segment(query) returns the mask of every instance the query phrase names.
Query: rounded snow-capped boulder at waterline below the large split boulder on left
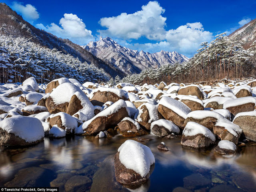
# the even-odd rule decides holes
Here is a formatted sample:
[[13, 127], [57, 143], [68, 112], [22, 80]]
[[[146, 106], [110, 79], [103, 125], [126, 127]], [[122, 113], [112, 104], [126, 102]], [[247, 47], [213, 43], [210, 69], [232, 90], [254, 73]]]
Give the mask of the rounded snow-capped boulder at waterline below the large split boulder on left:
[[72, 133], [77, 128], [78, 123], [76, 118], [64, 112], [59, 112], [50, 117], [50, 126], [53, 127], [55, 125], [67, 133]]

